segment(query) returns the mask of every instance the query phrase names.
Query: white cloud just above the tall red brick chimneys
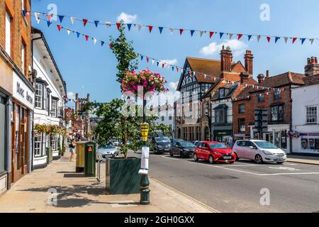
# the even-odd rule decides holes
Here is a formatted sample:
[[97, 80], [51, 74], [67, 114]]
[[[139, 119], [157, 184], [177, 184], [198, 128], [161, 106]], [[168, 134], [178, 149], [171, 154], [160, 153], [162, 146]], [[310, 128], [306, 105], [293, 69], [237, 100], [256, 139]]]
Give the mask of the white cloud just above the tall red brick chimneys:
[[214, 55], [216, 52], [219, 52], [223, 48], [223, 45], [225, 46], [225, 48], [230, 47], [231, 50], [234, 50], [234, 56], [241, 55], [242, 52], [245, 51], [244, 49], [247, 48], [247, 45], [240, 40], [228, 40], [220, 44], [210, 43], [209, 45], [201, 48], [199, 53], [205, 56]]

